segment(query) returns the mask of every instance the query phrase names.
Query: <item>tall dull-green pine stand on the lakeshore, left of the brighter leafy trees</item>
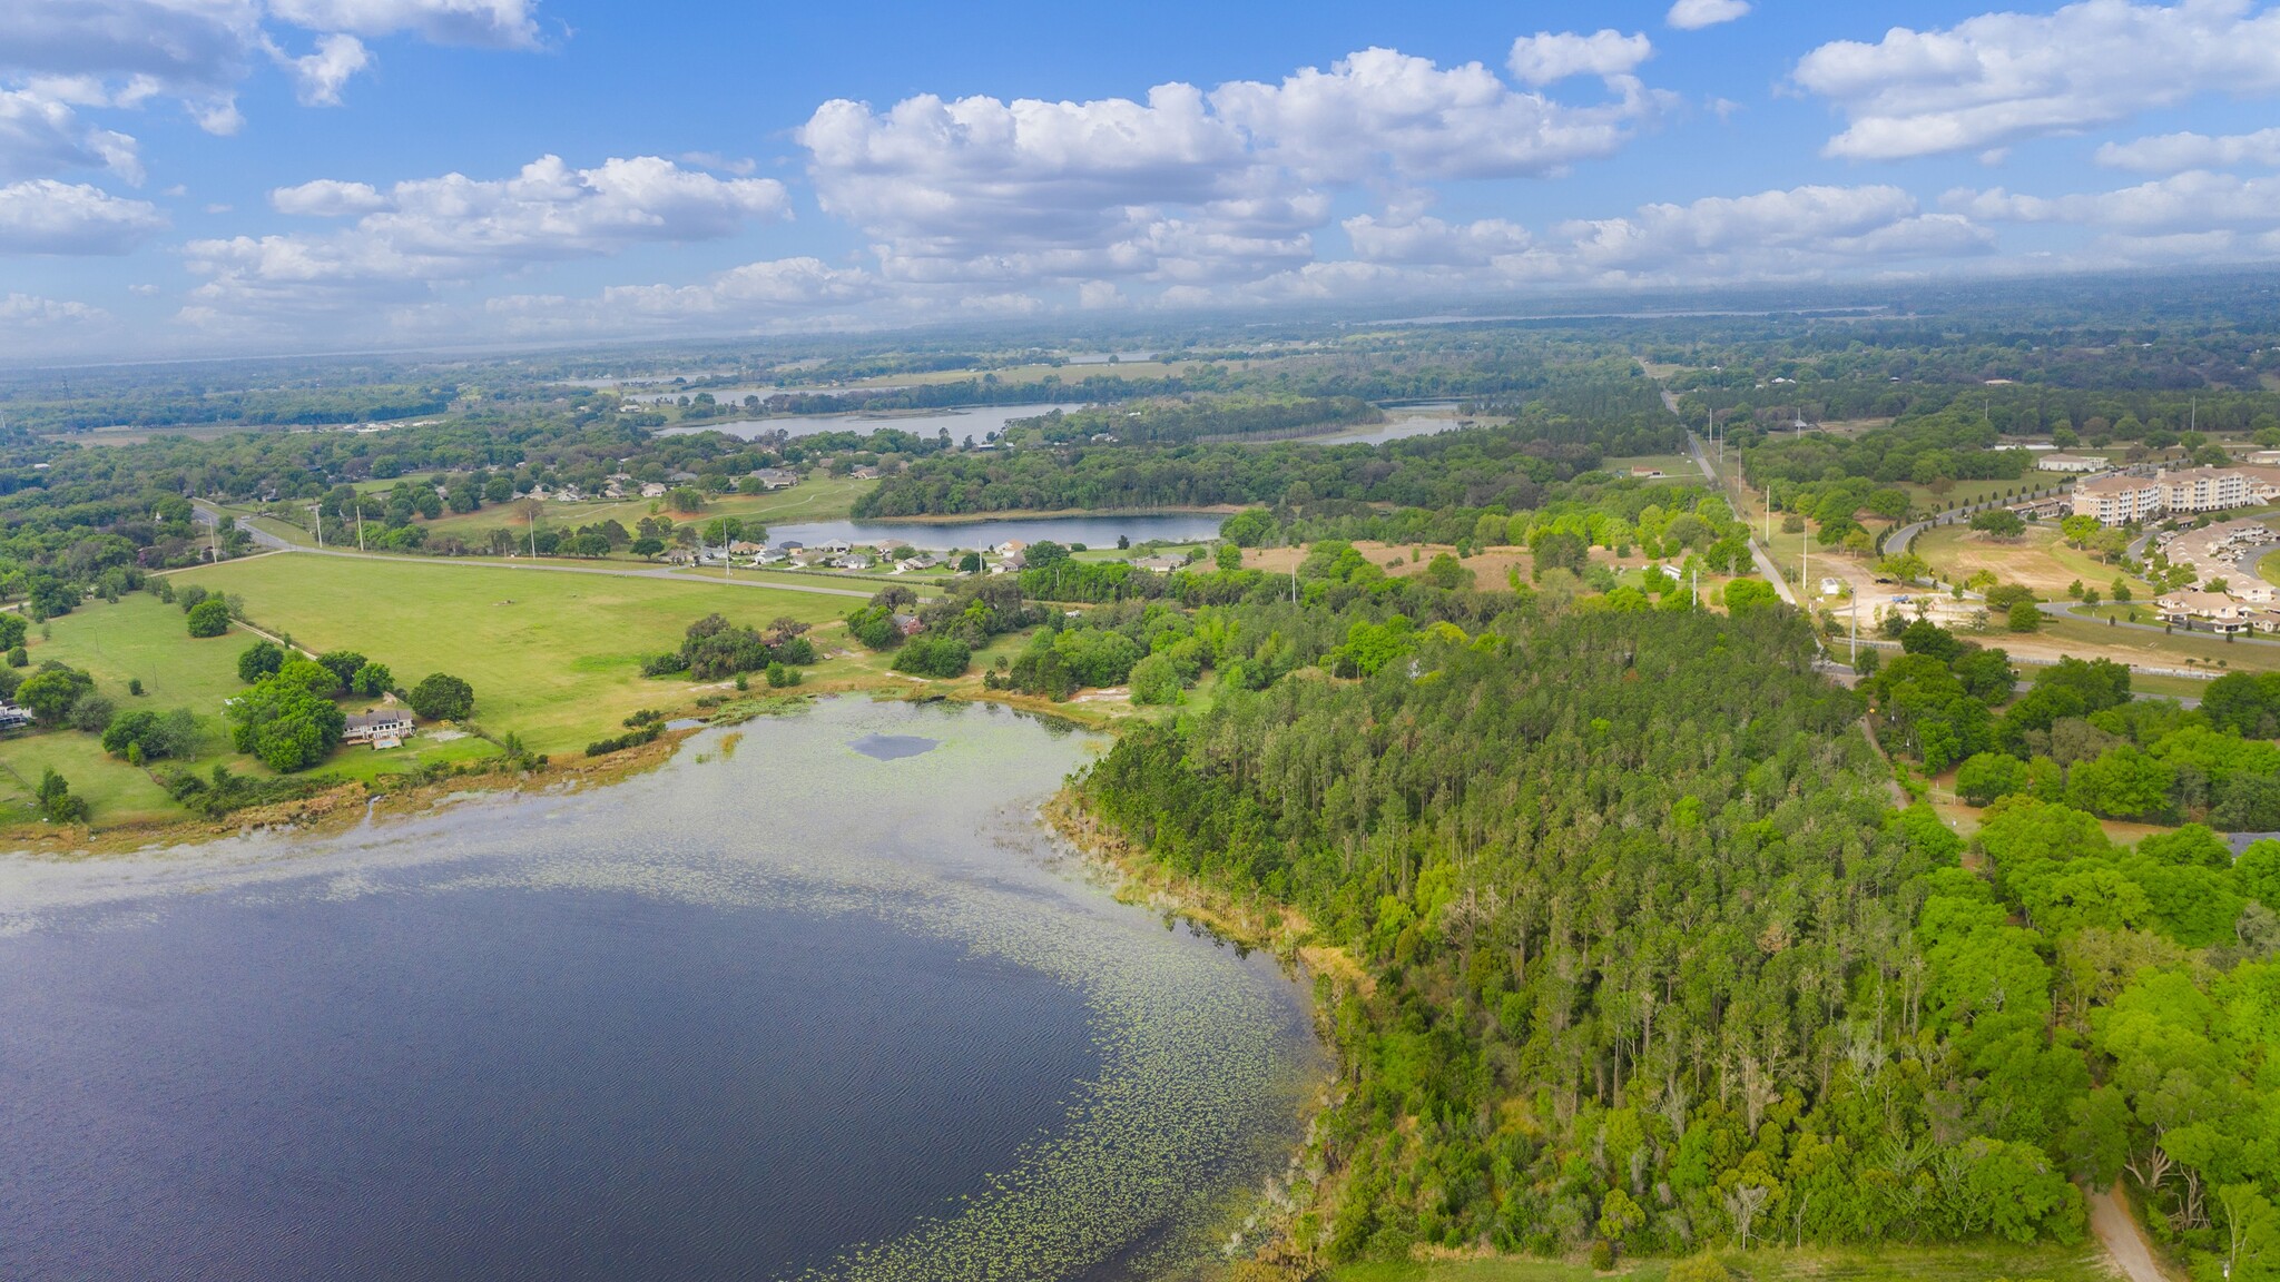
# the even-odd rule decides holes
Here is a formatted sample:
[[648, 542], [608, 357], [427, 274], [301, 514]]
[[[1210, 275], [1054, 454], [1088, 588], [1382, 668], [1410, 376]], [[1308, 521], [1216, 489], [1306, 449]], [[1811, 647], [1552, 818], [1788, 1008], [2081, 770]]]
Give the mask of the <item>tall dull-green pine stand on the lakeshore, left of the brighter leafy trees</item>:
[[1411, 657], [1222, 691], [1078, 785], [1377, 981], [1311, 1246], [2079, 1234], [2084, 1058], [1922, 931], [1959, 842], [1890, 810], [1794, 616], [1509, 602]]

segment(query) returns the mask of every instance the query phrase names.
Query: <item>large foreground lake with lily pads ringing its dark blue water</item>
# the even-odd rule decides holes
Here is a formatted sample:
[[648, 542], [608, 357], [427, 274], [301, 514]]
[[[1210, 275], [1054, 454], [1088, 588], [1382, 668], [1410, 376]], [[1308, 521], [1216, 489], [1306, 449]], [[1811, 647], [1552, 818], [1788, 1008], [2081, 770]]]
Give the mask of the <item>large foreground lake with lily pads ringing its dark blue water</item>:
[[1042, 837], [1092, 748], [828, 700], [584, 794], [0, 862], [0, 1277], [1204, 1257], [1318, 1049], [1265, 958]]

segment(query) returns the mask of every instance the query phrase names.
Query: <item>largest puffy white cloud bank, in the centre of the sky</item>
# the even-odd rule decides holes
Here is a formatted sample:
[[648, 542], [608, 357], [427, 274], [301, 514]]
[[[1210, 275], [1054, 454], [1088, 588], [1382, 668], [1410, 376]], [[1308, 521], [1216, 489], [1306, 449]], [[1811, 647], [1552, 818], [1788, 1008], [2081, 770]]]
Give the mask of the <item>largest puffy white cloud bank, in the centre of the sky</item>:
[[825, 212], [901, 281], [1224, 281], [1293, 269], [1327, 187], [1518, 178], [1619, 151], [1669, 107], [1628, 75], [1644, 36], [1541, 36], [1537, 71], [1596, 73], [1566, 105], [1487, 66], [1370, 48], [1281, 82], [1145, 100], [905, 98], [821, 105], [798, 130]]

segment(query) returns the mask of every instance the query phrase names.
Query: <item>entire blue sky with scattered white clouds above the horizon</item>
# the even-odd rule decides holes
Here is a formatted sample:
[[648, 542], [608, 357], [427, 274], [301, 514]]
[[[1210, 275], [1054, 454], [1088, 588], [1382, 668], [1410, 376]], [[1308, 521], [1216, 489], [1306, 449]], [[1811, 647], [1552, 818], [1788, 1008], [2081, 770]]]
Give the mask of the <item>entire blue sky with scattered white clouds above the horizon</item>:
[[2264, 262], [2275, 103], [2257, 0], [14, 0], [0, 347]]

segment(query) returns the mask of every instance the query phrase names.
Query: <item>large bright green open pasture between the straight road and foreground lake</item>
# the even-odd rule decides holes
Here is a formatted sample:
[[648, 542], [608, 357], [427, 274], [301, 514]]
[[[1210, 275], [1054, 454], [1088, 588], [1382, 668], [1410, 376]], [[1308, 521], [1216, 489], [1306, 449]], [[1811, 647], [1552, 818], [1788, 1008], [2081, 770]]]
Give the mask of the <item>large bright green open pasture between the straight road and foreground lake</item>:
[[[187, 570], [176, 584], [244, 598], [246, 616], [310, 650], [358, 650], [404, 687], [426, 673], [474, 684], [477, 721], [538, 753], [618, 732], [643, 707], [686, 705], [691, 687], [641, 662], [723, 614], [766, 627], [825, 623], [855, 598], [702, 579], [575, 575], [456, 563], [278, 554]], [[239, 641], [242, 643], [242, 641]]]

